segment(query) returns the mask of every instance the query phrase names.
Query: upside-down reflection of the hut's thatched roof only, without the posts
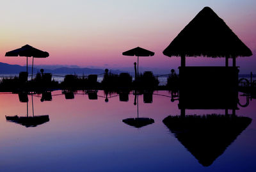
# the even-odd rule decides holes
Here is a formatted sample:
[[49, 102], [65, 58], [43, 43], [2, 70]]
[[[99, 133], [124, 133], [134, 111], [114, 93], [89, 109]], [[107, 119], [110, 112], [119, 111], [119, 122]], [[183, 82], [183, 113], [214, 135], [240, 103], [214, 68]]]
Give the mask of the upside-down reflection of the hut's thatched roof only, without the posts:
[[168, 116], [163, 123], [200, 164], [210, 166], [251, 121], [247, 117], [208, 114]]

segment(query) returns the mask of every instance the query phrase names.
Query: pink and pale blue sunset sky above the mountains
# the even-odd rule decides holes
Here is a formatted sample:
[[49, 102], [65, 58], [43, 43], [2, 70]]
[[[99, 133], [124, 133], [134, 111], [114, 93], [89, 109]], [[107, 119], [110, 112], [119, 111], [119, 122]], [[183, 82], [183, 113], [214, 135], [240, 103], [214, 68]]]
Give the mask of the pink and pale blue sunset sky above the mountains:
[[[25, 58], [4, 54], [29, 44], [50, 54], [36, 59], [35, 65], [133, 68], [136, 58], [122, 52], [140, 46], [156, 52], [140, 58], [141, 67], [177, 69], [180, 58], [162, 52], [204, 6], [211, 7], [252, 50], [253, 56], [238, 58], [240, 71], [256, 72], [255, 0], [2, 0], [0, 62], [26, 65]], [[188, 58], [187, 65], [223, 66], [225, 59]]]

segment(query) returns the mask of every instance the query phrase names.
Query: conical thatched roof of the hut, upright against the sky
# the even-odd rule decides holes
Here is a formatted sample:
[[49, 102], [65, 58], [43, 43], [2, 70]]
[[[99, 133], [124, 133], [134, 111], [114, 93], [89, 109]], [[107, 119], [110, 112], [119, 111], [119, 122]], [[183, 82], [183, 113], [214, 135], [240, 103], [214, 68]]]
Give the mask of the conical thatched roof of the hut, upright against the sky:
[[209, 7], [205, 7], [163, 51], [172, 56], [252, 56], [252, 51]]

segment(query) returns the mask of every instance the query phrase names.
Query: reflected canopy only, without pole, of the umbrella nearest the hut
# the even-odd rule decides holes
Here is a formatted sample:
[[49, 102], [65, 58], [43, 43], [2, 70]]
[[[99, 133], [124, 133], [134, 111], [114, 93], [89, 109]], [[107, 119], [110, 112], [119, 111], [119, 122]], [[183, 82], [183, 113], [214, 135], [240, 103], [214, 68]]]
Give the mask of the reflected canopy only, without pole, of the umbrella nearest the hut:
[[152, 124], [155, 121], [152, 118], [127, 118], [123, 120], [123, 122], [131, 125], [132, 127], [141, 128], [146, 125]]

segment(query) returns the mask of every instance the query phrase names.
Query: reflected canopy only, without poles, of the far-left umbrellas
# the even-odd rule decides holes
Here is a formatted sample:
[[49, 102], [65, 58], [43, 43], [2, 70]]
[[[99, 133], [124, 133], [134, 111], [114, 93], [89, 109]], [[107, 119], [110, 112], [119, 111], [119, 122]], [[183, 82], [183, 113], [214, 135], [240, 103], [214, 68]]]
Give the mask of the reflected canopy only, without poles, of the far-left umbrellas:
[[49, 115], [42, 116], [33, 116], [33, 117], [19, 117], [19, 116], [5, 116], [7, 121], [11, 121], [14, 123], [19, 123], [20, 125], [24, 125], [26, 127], [36, 127], [37, 125], [41, 125], [49, 121]]

